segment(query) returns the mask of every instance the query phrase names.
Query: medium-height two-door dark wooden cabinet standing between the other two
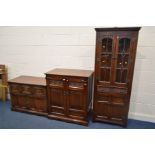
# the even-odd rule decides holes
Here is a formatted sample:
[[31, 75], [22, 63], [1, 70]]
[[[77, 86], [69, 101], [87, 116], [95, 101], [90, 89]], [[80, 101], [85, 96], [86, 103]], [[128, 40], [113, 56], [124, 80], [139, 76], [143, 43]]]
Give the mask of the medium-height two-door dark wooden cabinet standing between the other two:
[[88, 125], [93, 72], [54, 69], [46, 73], [48, 118]]

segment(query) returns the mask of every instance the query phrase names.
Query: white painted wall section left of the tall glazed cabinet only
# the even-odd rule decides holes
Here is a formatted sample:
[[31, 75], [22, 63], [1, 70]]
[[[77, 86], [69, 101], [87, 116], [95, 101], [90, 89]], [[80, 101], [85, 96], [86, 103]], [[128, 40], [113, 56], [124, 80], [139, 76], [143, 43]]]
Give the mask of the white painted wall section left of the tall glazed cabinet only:
[[9, 77], [44, 76], [53, 68], [94, 68], [95, 31], [89, 27], [0, 27], [0, 63]]

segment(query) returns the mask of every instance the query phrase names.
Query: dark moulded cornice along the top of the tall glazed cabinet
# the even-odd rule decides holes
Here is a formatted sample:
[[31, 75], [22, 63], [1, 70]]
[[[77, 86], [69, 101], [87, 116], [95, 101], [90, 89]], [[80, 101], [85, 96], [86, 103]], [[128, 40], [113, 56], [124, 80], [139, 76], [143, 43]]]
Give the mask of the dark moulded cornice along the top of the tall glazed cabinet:
[[141, 27], [103, 27], [103, 28], [95, 28], [96, 32], [101, 31], [139, 31]]

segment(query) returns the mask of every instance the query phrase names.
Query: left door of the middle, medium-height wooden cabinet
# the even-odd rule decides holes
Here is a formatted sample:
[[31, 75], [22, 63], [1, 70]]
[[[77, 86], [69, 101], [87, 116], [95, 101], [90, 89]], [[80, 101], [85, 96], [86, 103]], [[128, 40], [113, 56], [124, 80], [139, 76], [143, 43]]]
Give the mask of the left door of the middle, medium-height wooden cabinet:
[[62, 81], [51, 80], [49, 84], [49, 112], [65, 115], [66, 96]]

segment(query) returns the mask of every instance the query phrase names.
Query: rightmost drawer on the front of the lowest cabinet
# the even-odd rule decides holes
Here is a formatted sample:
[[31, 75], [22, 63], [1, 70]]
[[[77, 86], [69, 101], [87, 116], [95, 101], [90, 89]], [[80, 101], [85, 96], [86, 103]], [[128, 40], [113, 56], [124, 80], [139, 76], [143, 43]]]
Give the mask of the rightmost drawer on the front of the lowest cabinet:
[[36, 98], [45, 98], [46, 97], [46, 88], [44, 88], [44, 87], [33, 87], [33, 95]]

